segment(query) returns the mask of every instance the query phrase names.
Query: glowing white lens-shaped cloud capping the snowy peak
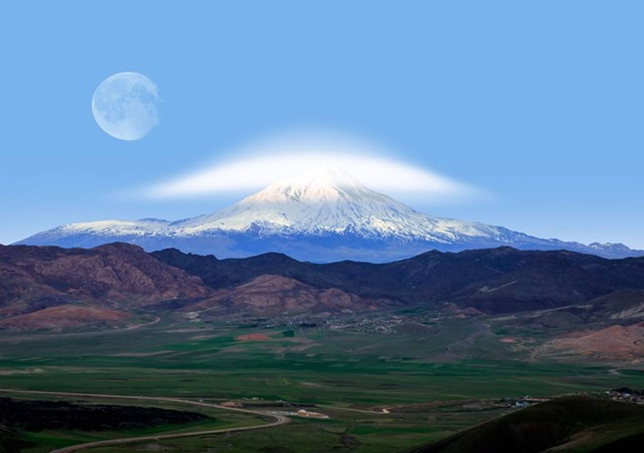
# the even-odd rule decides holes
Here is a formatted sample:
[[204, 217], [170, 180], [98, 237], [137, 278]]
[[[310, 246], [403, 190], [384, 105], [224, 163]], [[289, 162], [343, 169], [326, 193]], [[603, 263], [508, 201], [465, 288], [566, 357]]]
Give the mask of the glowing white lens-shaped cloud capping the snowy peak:
[[291, 137], [239, 149], [238, 159], [196, 169], [144, 189], [146, 197], [176, 198], [254, 190], [311, 169], [343, 169], [371, 189], [462, 198], [479, 191], [428, 169], [386, 157], [365, 143], [319, 136]]

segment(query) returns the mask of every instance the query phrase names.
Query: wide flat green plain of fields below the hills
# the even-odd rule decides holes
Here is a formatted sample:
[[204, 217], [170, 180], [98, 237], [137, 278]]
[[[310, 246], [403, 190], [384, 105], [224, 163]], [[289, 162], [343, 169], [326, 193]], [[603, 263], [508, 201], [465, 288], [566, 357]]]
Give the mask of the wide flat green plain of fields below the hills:
[[[501, 399], [644, 387], [644, 371], [636, 367], [532, 361], [491, 333], [478, 335], [477, 329], [471, 322], [450, 320], [433, 335], [326, 328], [295, 329], [291, 334], [283, 327], [226, 323], [158, 323], [102, 333], [5, 333], [0, 336], [0, 387], [238, 400], [267, 410], [284, 410], [279, 405], [286, 401], [319, 405], [315, 410], [330, 416], [145, 447], [232, 452], [264, 447], [283, 452], [403, 450], [507, 412], [498, 403]], [[261, 335], [239, 340], [244, 334]], [[450, 354], [445, 354], [448, 348]], [[459, 357], [459, 348], [468, 349], [469, 358]], [[391, 413], [346, 410], [383, 408]], [[216, 420], [205, 429], [261, 422], [243, 414], [211, 412]], [[143, 433], [23, 433], [23, 438], [39, 445], [30, 451], [40, 452], [95, 439], [202, 429], [204, 423]]]

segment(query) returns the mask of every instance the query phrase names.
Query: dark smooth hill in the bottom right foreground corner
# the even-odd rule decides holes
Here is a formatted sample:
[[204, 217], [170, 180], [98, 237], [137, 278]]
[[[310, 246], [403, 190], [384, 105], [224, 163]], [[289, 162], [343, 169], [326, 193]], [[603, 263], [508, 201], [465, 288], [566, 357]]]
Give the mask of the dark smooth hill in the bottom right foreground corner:
[[644, 407], [565, 396], [411, 450], [414, 453], [641, 452]]

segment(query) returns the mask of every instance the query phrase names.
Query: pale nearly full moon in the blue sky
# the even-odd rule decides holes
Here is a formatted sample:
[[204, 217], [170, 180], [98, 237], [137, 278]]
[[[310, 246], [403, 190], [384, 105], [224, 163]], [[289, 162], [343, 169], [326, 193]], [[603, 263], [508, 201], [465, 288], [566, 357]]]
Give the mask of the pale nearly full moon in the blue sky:
[[100, 83], [91, 97], [91, 113], [112, 137], [138, 140], [158, 124], [160, 102], [156, 85], [148, 77], [119, 72]]

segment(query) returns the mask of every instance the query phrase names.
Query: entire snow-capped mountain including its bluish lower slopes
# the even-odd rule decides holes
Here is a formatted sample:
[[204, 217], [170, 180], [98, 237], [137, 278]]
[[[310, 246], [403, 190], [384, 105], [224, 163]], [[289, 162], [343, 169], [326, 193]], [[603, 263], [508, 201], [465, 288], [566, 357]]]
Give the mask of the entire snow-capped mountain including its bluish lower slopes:
[[115, 241], [148, 250], [176, 247], [220, 258], [278, 251], [316, 262], [379, 262], [428, 249], [498, 246], [569, 249], [610, 258], [644, 255], [644, 251], [623, 244], [585, 246], [540, 239], [504, 227], [430, 217], [333, 168], [274, 182], [209, 215], [176, 222], [145, 218], [68, 224], [37, 233], [19, 244], [90, 247]]

